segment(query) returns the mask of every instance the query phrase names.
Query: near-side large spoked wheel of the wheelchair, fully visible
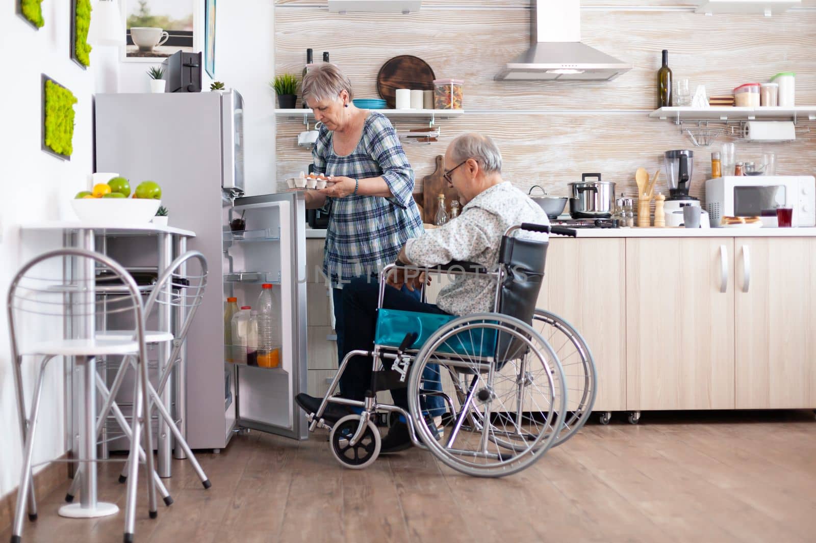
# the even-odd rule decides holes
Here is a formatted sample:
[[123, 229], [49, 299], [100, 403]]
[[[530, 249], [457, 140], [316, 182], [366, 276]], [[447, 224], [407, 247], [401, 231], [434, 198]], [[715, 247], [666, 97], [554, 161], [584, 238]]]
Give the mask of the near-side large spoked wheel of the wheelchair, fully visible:
[[433, 333], [411, 364], [413, 421], [422, 420], [420, 384], [427, 364], [439, 364], [441, 375], [452, 377], [442, 380], [442, 388], [452, 388], [459, 399], [443, 439], [415, 424], [419, 438], [447, 466], [481, 477], [511, 475], [543, 456], [557, 438], [566, 404], [557, 385], [564, 382], [561, 364], [521, 320], [482, 313], [451, 320]]

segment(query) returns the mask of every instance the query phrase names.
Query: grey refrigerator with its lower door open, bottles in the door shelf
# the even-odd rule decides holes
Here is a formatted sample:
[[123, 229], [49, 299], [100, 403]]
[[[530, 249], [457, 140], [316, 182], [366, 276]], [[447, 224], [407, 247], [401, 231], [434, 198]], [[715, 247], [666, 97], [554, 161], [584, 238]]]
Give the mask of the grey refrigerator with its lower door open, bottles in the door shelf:
[[[306, 439], [295, 405], [306, 390], [304, 196], [244, 196], [243, 121], [237, 91], [95, 95], [95, 171], [162, 187], [169, 225], [195, 232], [187, 249], [206, 257], [206, 294], [187, 336], [176, 418], [193, 449], [224, 448], [235, 432]], [[244, 232], [230, 232], [242, 217]], [[277, 368], [234, 364], [224, 355], [224, 303], [255, 306], [263, 283], [277, 289]], [[127, 387], [122, 387], [123, 389]]]

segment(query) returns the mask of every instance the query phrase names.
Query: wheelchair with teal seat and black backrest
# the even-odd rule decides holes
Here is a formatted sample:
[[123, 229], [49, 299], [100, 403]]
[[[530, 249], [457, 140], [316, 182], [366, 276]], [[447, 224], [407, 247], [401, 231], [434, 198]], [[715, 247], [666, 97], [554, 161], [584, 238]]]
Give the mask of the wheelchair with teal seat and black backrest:
[[[403, 417], [412, 444], [478, 477], [524, 470], [586, 422], [596, 393], [592, 353], [573, 326], [535, 307], [548, 241], [512, 236], [517, 230], [576, 236], [570, 228], [522, 223], [504, 232], [495, 271], [474, 263], [424, 268], [397, 262], [380, 272], [372, 350], [348, 352], [317, 412], [307, 413], [310, 431], [330, 430], [330, 451], [342, 466], [362, 469], [379, 456], [379, 413]], [[398, 268], [494, 278], [494, 311], [457, 317], [384, 308], [386, 280]], [[372, 359], [364, 401], [335, 395], [354, 356]], [[378, 402], [378, 391], [401, 387], [407, 388], [407, 411]], [[425, 416], [432, 402], [444, 406], [439, 426]], [[328, 404], [361, 413], [330, 424], [322, 418]]]

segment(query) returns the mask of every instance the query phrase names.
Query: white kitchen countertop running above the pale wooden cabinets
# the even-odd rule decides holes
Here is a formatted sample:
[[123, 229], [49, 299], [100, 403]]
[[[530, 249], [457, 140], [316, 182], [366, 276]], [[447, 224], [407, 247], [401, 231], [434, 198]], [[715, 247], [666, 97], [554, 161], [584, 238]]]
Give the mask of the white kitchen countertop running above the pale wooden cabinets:
[[[578, 228], [579, 237], [814, 237], [816, 228]], [[326, 230], [306, 229], [307, 238], [325, 238]], [[561, 236], [558, 236], [561, 237]]]

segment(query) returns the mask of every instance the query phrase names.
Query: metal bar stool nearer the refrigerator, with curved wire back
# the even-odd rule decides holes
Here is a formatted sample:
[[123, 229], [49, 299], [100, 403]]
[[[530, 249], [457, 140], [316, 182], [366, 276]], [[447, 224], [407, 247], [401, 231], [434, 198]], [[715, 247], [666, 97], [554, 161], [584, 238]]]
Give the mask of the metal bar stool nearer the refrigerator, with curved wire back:
[[[190, 464], [193, 466], [193, 470], [195, 470], [198, 478], [201, 480], [202, 486], [204, 488], [210, 488], [210, 479], [207, 478], [204, 470], [193, 454], [193, 451], [189, 448], [187, 441], [184, 439], [184, 435], [182, 435], [174, 418], [163, 404], [161, 398], [162, 392], [166, 388], [166, 384], [171, 376], [171, 373], [173, 372], [173, 369], [181, 360], [180, 354], [182, 348], [184, 347], [184, 341], [187, 337], [190, 324], [192, 324], [193, 318], [195, 317], [197, 309], [201, 305], [202, 298], [204, 297], [204, 292], [206, 290], [206, 279], [206, 258], [202, 253], [199, 251], [188, 251], [187, 253], [176, 258], [173, 263], [171, 263], [171, 265], [167, 267], [164, 272], [162, 272], [162, 276], [157, 279], [157, 282], [153, 285], [153, 289], [151, 290], [150, 297], [144, 306], [145, 316], [150, 316], [153, 309], [157, 309], [158, 311], [175, 311], [177, 317], [175, 335], [171, 332], [163, 330], [145, 330], [144, 339], [145, 342], [149, 344], [171, 342], [173, 347], [170, 354], [166, 358], [166, 364], [164, 364], [164, 367], [162, 368], [162, 373], [159, 375], [157, 386], [153, 388], [153, 384], [151, 382], [147, 382], [149, 396], [151, 399], [150, 408], [148, 409], [148, 416], [152, 416], [153, 407], [157, 408], [160, 420], [163, 420], [163, 422], [169, 427], [169, 430], [175, 437], [176, 446], [179, 446], [182, 448], [182, 450], [184, 450], [184, 454], [186, 455]], [[104, 330], [97, 332], [96, 338], [124, 339], [127, 338], [130, 333], [131, 332], [126, 329]], [[100, 417], [96, 423], [97, 436], [101, 434], [105, 421], [111, 413], [113, 413], [113, 417], [117, 420], [119, 426], [122, 427], [122, 430], [125, 430], [127, 435], [126, 426], [122, 425], [122, 421], [125, 420], [125, 417], [122, 414], [121, 409], [116, 404], [115, 398], [120, 387], [122, 386], [127, 369], [131, 367], [135, 367], [135, 360], [133, 357], [126, 357], [125, 360], [122, 360], [122, 364], [120, 364], [116, 376], [113, 378], [113, 384], [110, 386], [110, 389], [101, 376], [97, 377], [97, 388], [105, 400], [104, 407], [100, 411]], [[129, 435], [127, 436], [129, 437]], [[143, 455], [144, 452], [140, 451], [140, 457]], [[128, 481], [128, 479], [130, 479], [130, 470], [131, 462], [128, 460], [126, 462], [126, 466], [124, 466], [122, 469], [122, 475], [119, 476], [120, 483], [125, 483]], [[169, 492], [166, 491], [166, 488], [162, 484], [162, 481], [159, 479], [156, 472], [153, 472], [153, 479], [156, 482], [159, 492], [162, 494], [165, 504], [171, 505], [173, 500], [170, 497]], [[77, 488], [78, 481], [74, 480], [68, 494], [65, 496], [65, 501], [73, 501], [73, 496], [77, 491]], [[130, 485], [128, 496], [131, 496]], [[128, 501], [128, 506], [130, 506], [130, 504], [131, 502]], [[128, 510], [126, 510], [126, 522], [131, 523], [133, 519], [134, 515], [128, 514]], [[132, 525], [129, 524], [129, 526], [132, 528]]]

